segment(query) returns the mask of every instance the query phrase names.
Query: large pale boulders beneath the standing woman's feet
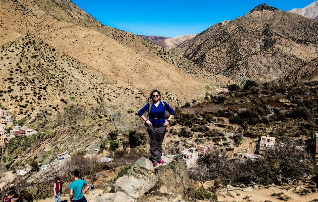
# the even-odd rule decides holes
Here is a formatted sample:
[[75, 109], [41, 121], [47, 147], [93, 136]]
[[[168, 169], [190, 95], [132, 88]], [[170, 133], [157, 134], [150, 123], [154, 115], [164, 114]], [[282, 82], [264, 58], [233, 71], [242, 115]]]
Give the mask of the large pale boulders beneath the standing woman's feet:
[[157, 168], [149, 159], [138, 159], [128, 175], [113, 184], [112, 192], [97, 196], [97, 202], [111, 201], [192, 201], [191, 182], [180, 155], [164, 155]]

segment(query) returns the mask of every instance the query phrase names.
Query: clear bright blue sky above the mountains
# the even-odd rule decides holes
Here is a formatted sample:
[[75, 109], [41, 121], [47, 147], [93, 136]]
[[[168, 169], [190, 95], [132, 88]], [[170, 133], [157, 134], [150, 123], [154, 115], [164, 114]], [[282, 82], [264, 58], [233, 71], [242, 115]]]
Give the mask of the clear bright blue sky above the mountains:
[[200, 33], [266, 3], [288, 11], [313, 0], [72, 0], [102, 24], [140, 35], [174, 37]]

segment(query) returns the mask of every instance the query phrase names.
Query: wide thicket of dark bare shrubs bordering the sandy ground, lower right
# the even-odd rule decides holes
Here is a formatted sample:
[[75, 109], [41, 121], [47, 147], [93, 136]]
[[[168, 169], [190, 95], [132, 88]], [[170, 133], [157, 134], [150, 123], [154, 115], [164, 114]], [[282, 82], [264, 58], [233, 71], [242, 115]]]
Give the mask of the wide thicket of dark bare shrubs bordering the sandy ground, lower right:
[[189, 170], [189, 176], [197, 181], [219, 179], [224, 185], [252, 182], [282, 184], [300, 179], [305, 173], [315, 173], [314, 162], [309, 155], [295, 149], [289, 139], [278, 140], [276, 145], [257, 161], [230, 159], [219, 151], [212, 151], [198, 159], [197, 166]]

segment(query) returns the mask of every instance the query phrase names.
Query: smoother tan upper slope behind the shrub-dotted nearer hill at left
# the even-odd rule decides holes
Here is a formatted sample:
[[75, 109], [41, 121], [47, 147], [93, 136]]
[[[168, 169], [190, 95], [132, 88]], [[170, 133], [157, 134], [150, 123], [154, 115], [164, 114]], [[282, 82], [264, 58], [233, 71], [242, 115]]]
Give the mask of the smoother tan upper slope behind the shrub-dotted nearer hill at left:
[[182, 104], [203, 97], [206, 84], [218, 83], [187, 59], [135, 34], [102, 26], [70, 1], [2, 1], [1, 6], [7, 11], [0, 14], [0, 37], [6, 38], [2, 43], [31, 33], [118, 85], [132, 85], [145, 93], [159, 88], [173, 94], [171, 102]]

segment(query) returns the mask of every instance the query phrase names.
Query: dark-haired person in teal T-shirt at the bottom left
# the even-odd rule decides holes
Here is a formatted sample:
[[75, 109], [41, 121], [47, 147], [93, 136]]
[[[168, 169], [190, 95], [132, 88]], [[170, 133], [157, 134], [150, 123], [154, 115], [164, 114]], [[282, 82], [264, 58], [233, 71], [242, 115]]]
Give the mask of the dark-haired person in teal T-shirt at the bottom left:
[[[87, 202], [83, 193], [89, 189], [90, 184], [80, 178], [79, 171], [74, 171], [73, 175], [75, 180], [70, 184], [70, 200], [73, 202]], [[84, 186], [86, 188], [82, 192]]]

